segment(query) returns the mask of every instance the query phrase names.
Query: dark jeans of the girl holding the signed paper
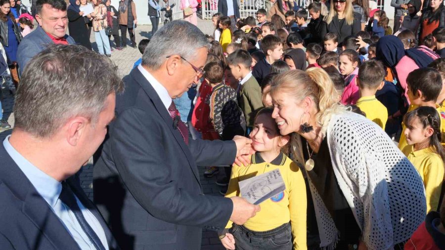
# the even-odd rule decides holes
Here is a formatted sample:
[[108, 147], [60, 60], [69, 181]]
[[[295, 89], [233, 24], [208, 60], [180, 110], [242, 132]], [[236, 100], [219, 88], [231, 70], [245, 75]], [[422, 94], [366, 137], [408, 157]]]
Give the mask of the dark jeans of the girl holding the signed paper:
[[266, 232], [255, 232], [236, 225], [232, 234], [237, 250], [292, 250], [293, 247], [290, 223]]

